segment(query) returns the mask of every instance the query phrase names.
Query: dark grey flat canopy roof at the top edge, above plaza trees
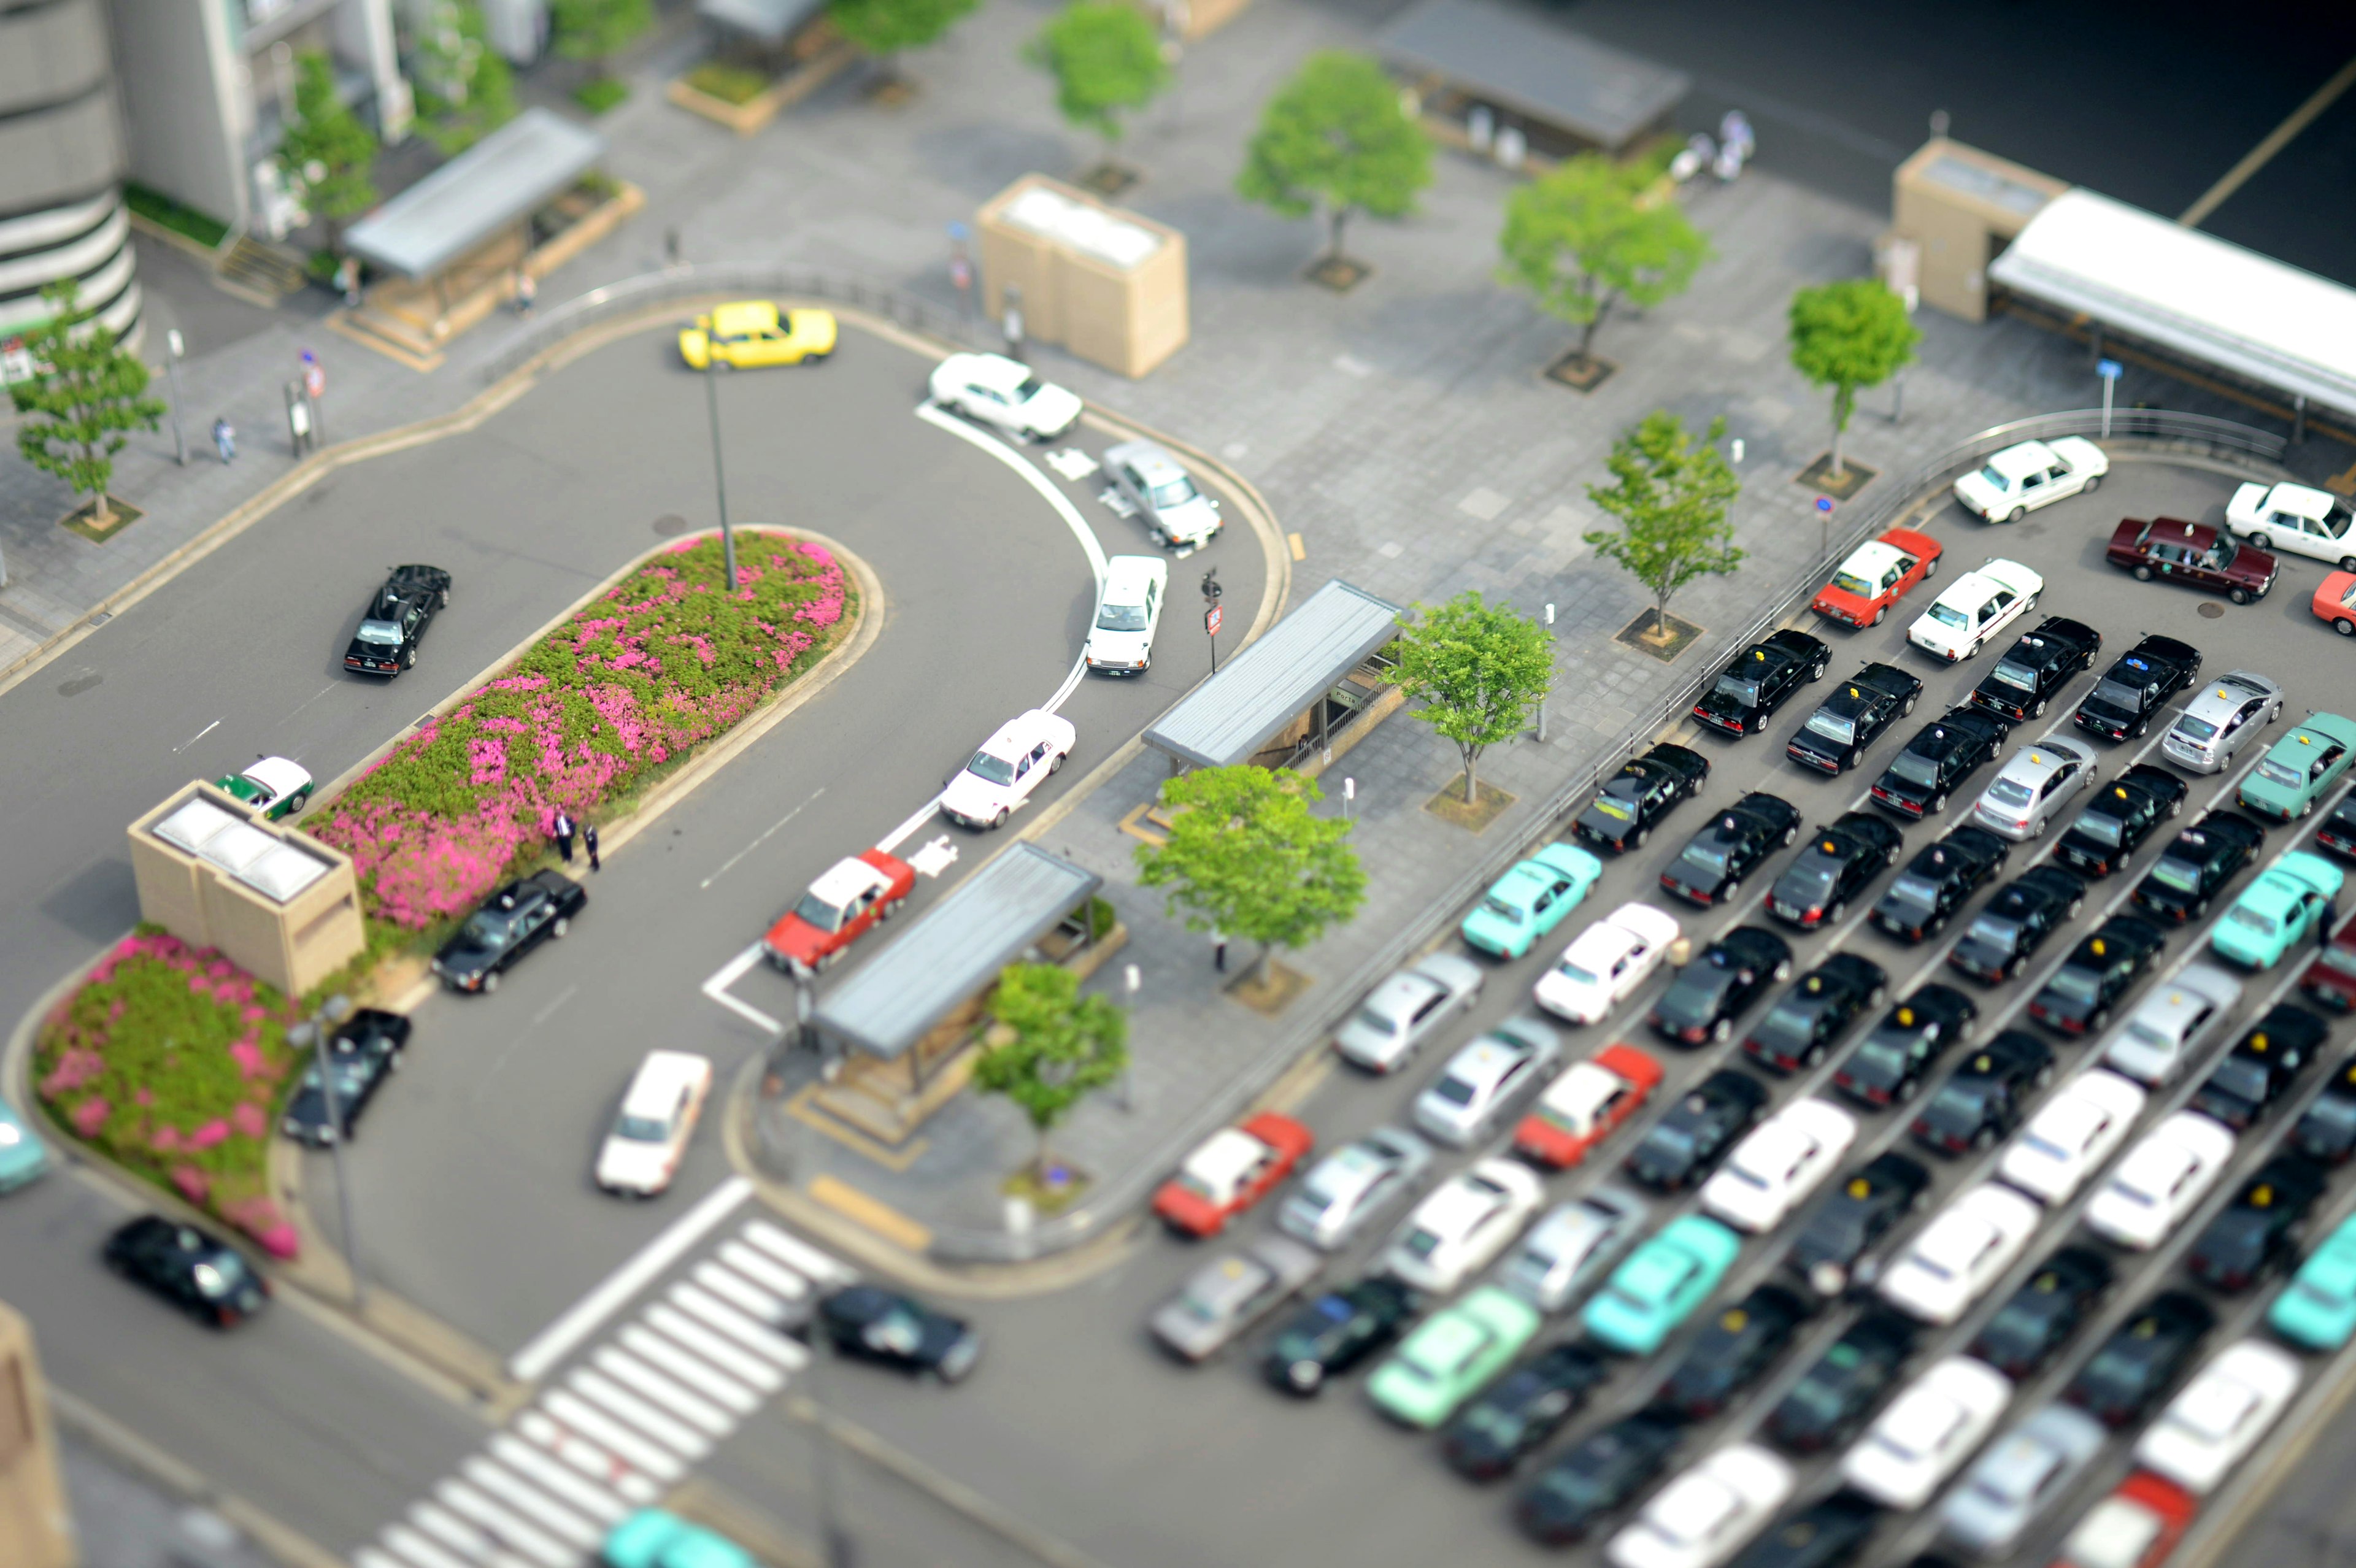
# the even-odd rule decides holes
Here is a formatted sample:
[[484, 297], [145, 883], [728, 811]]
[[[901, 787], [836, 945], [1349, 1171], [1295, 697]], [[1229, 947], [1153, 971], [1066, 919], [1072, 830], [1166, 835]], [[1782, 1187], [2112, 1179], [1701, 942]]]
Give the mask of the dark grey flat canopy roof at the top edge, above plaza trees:
[[1489, 0], [1423, 0], [1374, 47], [1392, 66], [1619, 151], [1673, 111], [1692, 78]]

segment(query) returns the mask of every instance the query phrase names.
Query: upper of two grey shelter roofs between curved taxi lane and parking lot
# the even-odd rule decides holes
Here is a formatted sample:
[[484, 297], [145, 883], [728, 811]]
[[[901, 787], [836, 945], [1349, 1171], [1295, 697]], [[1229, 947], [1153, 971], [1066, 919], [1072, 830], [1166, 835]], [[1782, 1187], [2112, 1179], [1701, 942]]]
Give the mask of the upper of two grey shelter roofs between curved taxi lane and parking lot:
[[1154, 720], [1145, 744], [1194, 768], [1249, 763], [1395, 636], [1399, 607], [1336, 577]]

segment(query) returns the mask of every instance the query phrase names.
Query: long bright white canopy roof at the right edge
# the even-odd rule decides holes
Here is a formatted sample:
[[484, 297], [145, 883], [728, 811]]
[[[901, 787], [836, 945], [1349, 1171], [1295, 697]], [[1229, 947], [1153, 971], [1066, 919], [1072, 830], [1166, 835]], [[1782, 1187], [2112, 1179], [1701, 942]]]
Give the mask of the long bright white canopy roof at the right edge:
[[2003, 287], [2356, 417], [2356, 290], [2092, 191], [1988, 266]]

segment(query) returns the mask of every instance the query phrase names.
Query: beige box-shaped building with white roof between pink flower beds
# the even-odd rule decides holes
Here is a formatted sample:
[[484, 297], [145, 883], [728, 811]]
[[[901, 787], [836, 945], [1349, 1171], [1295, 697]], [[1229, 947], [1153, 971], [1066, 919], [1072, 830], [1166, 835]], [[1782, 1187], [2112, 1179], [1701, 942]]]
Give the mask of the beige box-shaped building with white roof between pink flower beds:
[[130, 826], [139, 918], [302, 996], [368, 946], [351, 857], [188, 784]]

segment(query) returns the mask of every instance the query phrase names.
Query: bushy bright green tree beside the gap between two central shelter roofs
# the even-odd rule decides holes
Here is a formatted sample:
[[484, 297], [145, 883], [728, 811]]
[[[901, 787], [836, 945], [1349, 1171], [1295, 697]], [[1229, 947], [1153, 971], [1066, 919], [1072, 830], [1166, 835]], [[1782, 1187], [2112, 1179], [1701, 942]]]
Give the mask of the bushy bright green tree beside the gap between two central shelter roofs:
[[1366, 873], [1345, 819], [1310, 810], [1315, 779], [1289, 768], [1199, 768], [1162, 784], [1169, 843], [1138, 848], [1138, 881], [1166, 888], [1187, 930], [1220, 930], [1270, 949], [1303, 949], [1357, 913]]

